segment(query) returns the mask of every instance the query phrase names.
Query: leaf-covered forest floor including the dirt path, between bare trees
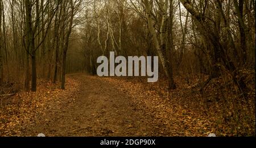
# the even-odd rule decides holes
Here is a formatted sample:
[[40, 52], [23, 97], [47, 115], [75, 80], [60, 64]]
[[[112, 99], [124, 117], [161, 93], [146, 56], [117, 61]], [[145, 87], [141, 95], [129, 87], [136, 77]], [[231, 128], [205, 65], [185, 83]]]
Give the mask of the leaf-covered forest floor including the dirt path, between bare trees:
[[86, 74], [68, 75], [66, 85], [63, 91], [42, 81], [38, 92], [2, 99], [0, 136], [207, 136], [216, 130], [204, 112], [163, 97], [186, 98], [191, 91], [159, 94], [129, 79]]

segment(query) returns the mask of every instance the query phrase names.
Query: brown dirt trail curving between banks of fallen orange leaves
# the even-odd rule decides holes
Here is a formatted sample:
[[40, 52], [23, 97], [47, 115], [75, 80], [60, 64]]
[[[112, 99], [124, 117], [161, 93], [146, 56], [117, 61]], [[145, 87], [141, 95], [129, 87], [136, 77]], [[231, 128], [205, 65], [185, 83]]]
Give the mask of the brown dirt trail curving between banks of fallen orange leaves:
[[68, 77], [81, 82], [75, 102], [70, 107], [64, 102], [63, 108], [53, 105], [47, 109], [35, 124], [26, 127], [26, 136], [156, 136], [159, 126], [125, 92], [89, 75]]

